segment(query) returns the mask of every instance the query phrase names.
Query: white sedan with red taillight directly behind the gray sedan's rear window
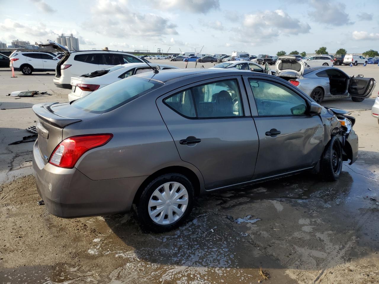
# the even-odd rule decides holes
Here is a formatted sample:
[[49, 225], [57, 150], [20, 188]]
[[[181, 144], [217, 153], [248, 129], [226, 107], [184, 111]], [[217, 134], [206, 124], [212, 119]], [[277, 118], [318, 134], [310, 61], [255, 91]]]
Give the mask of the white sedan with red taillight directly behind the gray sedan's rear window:
[[[178, 67], [172, 65], [150, 63], [153, 69], [158, 65], [161, 70], [178, 69]], [[128, 63], [97, 70], [89, 74], [81, 75], [80, 77], [71, 77], [69, 101], [84, 97], [97, 89], [126, 77], [149, 71], [152, 71], [152, 69], [146, 63]]]

